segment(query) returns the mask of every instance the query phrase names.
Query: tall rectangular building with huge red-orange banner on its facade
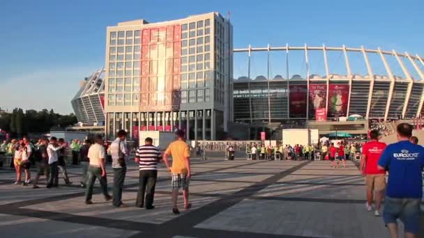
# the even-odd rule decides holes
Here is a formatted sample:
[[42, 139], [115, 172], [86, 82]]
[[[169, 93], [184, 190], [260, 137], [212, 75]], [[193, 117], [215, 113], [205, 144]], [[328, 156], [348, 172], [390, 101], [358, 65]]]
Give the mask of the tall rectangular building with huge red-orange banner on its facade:
[[187, 132], [190, 140], [227, 132], [232, 96], [232, 25], [219, 13], [107, 27], [106, 135], [125, 129]]

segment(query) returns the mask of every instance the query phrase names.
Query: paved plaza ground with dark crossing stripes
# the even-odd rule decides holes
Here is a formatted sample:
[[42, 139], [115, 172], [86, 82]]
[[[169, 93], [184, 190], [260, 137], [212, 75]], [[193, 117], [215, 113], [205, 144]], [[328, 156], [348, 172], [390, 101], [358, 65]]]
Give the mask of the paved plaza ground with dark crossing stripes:
[[[94, 204], [85, 205], [78, 167], [68, 168], [73, 185], [61, 180], [58, 189], [15, 185], [15, 173], [0, 170], [0, 237], [388, 237], [381, 217], [365, 210], [357, 164], [328, 164], [192, 159], [192, 209], [183, 209], [180, 196], [178, 216], [171, 212], [170, 176], [163, 166], [153, 210], [135, 207], [134, 163], [123, 192], [126, 208], [106, 203], [98, 182]], [[424, 223], [418, 237], [424, 237]]]

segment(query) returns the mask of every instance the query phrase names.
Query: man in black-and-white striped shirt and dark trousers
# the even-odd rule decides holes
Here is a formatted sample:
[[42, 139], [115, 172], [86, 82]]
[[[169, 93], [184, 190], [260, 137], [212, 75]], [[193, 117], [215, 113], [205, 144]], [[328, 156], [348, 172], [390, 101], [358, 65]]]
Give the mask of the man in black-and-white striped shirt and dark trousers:
[[[158, 148], [152, 145], [153, 140], [147, 137], [144, 145], [141, 145], [135, 153], [135, 162], [139, 163], [139, 189], [135, 205], [146, 209], [153, 209], [153, 197], [155, 196], [156, 178], [158, 177], [158, 162], [162, 159]], [[146, 193], [146, 203], [144, 203]]]

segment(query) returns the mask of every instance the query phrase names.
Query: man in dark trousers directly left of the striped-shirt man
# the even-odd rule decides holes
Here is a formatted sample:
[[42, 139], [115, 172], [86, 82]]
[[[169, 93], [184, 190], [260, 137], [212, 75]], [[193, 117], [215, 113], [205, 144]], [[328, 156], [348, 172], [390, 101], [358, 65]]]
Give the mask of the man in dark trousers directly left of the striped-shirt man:
[[127, 132], [121, 129], [118, 132], [118, 137], [110, 145], [112, 154], [112, 170], [114, 171], [114, 188], [113, 188], [113, 202], [115, 207], [126, 207], [122, 203], [122, 190], [123, 182], [127, 172], [126, 156], [130, 154], [128, 151], [126, 136]]

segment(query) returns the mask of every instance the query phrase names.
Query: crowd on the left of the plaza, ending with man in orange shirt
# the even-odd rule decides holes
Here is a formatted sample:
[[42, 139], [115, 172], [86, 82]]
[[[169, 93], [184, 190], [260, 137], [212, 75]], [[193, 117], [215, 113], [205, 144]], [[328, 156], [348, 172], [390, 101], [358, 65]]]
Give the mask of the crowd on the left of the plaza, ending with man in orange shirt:
[[[122, 193], [127, 172], [127, 164], [130, 155], [126, 142], [127, 133], [120, 130], [116, 139], [106, 144], [101, 136], [96, 136], [93, 141], [85, 140], [83, 143], [75, 140], [68, 145], [66, 141], [56, 137], [43, 138], [37, 143], [31, 143], [27, 137], [22, 141], [12, 140], [10, 143], [3, 142], [1, 147], [13, 150], [13, 163], [17, 173], [15, 184], [30, 184], [31, 173], [30, 158], [34, 158], [38, 168], [36, 178], [32, 182], [33, 189], [38, 189], [40, 176], [45, 175], [47, 189], [59, 187], [59, 170], [62, 170], [63, 179], [66, 184], [72, 184], [66, 173], [64, 150], [70, 148], [73, 155], [73, 164], [79, 164], [82, 169], [80, 186], [86, 189], [85, 203], [93, 204], [93, 185], [98, 180], [100, 188], [106, 201], [112, 200], [115, 207], [127, 207], [122, 202]], [[135, 205], [140, 208], [153, 209], [153, 198], [158, 177], [158, 164], [164, 162], [172, 177], [172, 212], [179, 214], [177, 205], [179, 189], [183, 189], [184, 208], [190, 209], [189, 184], [190, 184], [190, 147], [185, 143], [185, 133], [182, 130], [176, 132], [176, 141], [170, 143], [167, 150], [162, 153], [153, 145], [152, 138], [146, 138], [144, 145], [137, 148], [135, 162], [139, 165], [139, 189]], [[112, 196], [107, 187], [107, 154], [112, 157], [113, 187]], [[172, 157], [172, 165], [169, 161]], [[63, 160], [63, 161], [62, 161]], [[22, 182], [21, 170], [25, 172], [25, 180]]]

